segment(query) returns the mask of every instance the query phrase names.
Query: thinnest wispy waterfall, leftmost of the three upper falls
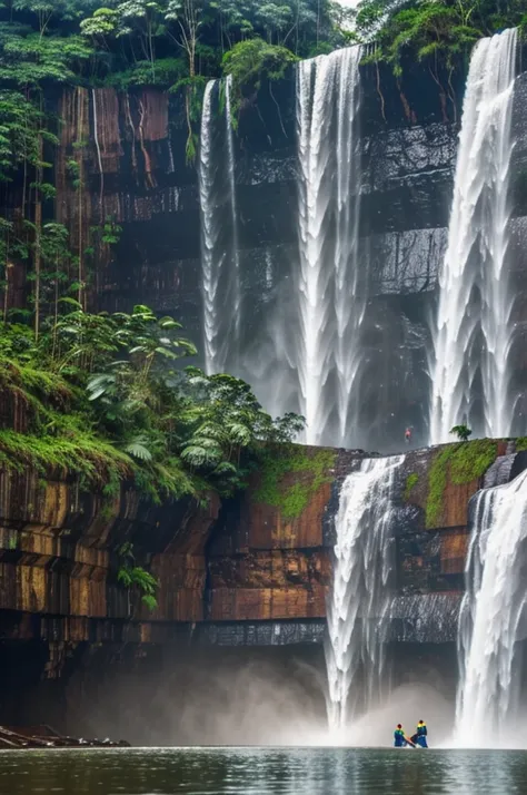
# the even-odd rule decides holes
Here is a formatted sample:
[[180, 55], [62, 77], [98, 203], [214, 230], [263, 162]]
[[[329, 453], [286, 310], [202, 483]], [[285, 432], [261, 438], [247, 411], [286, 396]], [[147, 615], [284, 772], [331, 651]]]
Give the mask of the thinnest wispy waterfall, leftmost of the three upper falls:
[[[220, 90], [225, 90], [222, 125]], [[236, 365], [241, 311], [230, 78], [223, 87], [211, 80], [205, 90], [199, 197], [205, 369], [212, 374]]]

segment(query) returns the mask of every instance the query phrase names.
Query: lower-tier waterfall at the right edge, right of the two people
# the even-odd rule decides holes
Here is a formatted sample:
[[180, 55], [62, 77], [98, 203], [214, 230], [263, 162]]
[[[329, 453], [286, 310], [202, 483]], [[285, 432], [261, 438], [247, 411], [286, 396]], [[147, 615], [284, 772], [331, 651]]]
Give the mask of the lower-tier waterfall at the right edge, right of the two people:
[[478, 492], [471, 508], [456, 736], [464, 747], [523, 746], [515, 732], [521, 709], [519, 641], [527, 638], [527, 470], [506, 485]]

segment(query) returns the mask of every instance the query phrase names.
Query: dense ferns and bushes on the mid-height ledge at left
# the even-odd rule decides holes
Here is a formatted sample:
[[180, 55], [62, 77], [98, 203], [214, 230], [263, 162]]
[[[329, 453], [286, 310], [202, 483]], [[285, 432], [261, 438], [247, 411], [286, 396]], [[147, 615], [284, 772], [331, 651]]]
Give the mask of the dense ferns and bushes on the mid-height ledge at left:
[[230, 494], [262, 442], [290, 442], [302, 426], [296, 415], [274, 421], [242, 381], [181, 369], [195, 347], [172, 318], [74, 304], [46, 317], [38, 337], [0, 326], [0, 391], [13, 415], [0, 430], [2, 467], [59, 469], [106, 493], [133, 480], [156, 501]]

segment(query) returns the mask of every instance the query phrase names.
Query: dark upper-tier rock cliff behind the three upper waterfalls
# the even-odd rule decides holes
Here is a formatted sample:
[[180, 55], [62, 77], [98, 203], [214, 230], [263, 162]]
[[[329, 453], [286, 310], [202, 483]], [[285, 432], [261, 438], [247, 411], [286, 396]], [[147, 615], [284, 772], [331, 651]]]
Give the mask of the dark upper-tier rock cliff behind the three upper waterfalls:
[[[430, 317], [447, 243], [464, 75], [459, 70], [446, 90], [445, 76], [438, 86], [418, 65], [400, 84], [389, 70], [381, 69], [378, 76], [374, 67], [361, 71], [358, 257], [367, 273], [361, 286], [367, 311], [358, 426], [365, 440], [354, 443], [389, 452], [399, 449], [406, 425], [414, 426], [418, 443], [427, 441]], [[526, 92], [524, 72], [515, 88], [509, 246], [516, 295], [511, 389], [524, 396]], [[140, 302], [172, 313], [202, 352], [199, 187], [196, 168], [185, 161], [180, 98], [155, 89], [126, 95], [67, 89], [60, 116], [64, 124], [57, 156], [58, 217], [72, 232], [74, 253], [88, 241], [93, 248], [95, 259], [86, 264], [95, 274], [92, 305], [129, 310]], [[215, 151], [221, 163], [227, 158], [223, 121], [217, 119], [215, 127]], [[87, 144], [79, 147], [79, 140]], [[286, 340], [277, 337], [280, 318], [290, 311], [299, 259], [292, 75], [274, 85], [272, 92], [264, 86], [257, 101], [245, 106], [233, 149], [242, 333], [226, 365], [248, 380], [270, 410], [295, 411], [298, 384], [289, 365], [280, 371], [279, 386], [269, 377], [284, 359], [287, 336], [295, 333], [291, 327]], [[71, 159], [90, 188], [83, 198], [68, 170]], [[215, 202], [218, 218], [229, 227], [226, 196], [220, 192]], [[90, 237], [90, 228], [101, 223], [122, 227], [117, 246]], [[518, 416], [525, 415], [523, 401]]]

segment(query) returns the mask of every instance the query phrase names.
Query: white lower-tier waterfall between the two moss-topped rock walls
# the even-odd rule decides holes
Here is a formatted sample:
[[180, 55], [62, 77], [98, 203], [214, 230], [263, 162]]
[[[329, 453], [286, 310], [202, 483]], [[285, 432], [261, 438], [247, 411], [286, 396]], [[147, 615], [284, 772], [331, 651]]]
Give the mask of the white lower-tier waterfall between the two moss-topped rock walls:
[[374, 707], [385, 680], [392, 595], [392, 498], [405, 457], [365, 459], [341, 489], [326, 662], [330, 728]]

